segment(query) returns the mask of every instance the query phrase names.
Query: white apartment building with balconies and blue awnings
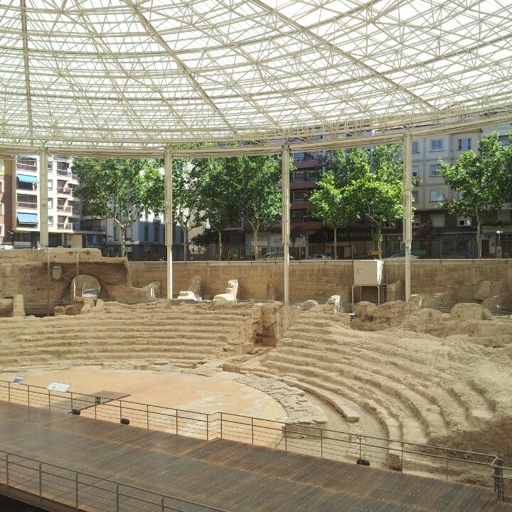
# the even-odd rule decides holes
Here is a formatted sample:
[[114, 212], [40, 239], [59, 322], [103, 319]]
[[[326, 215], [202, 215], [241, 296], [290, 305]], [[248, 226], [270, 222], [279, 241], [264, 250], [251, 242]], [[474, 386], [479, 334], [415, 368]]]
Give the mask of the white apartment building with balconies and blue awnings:
[[[5, 166], [4, 160], [4, 166]], [[105, 223], [82, 218], [82, 210], [74, 190], [78, 179], [73, 174], [69, 156], [48, 157], [48, 181], [41, 183], [39, 159], [34, 155], [18, 155], [12, 161], [9, 229], [10, 242], [17, 248], [39, 246], [39, 206], [41, 187], [48, 188], [48, 246], [97, 247], [105, 240]], [[4, 178], [4, 181], [6, 179]], [[5, 186], [5, 185], [4, 185]], [[4, 188], [4, 190], [8, 190]], [[6, 208], [4, 203], [4, 210]], [[87, 244], [87, 241], [93, 243]]]

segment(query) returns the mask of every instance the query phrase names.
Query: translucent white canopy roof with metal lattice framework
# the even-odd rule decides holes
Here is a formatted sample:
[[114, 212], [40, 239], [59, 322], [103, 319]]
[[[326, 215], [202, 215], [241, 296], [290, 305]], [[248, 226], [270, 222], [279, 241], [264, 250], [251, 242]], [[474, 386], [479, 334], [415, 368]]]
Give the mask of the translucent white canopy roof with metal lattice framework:
[[0, 0], [0, 145], [463, 120], [511, 76], [510, 0]]

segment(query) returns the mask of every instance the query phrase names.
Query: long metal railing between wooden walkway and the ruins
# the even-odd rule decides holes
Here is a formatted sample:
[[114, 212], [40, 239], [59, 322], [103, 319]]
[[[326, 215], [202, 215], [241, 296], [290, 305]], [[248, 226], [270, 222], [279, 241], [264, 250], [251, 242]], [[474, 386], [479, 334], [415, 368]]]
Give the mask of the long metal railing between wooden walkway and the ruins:
[[196, 439], [228, 439], [283, 449], [325, 459], [370, 464], [402, 472], [420, 471], [446, 481], [493, 486], [500, 501], [512, 501], [512, 468], [495, 455], [436, 447], [401, 440], [328, 430], [311, 425], [228, 412], [203, 413], [129, 400], [111, 400], [82, 393], [60, 393], [39, 386], [0, 380], [0, 400], [74, 412], [98, 420], [120, 422]]

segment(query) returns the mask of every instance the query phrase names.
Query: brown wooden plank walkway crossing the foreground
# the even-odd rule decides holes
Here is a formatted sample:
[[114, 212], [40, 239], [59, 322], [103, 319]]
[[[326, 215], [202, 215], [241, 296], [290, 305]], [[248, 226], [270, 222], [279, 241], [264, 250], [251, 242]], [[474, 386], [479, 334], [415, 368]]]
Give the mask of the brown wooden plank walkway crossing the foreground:
[[[6, 452], [11, 452], [71, 470], [52, 470], [9, 456], [12, 487], [24, 485], [31, 491], [40, 486], [41, 496], [69, 503], [69, 510], [75, 506], [69, 496], [78, 489], [78, 508], [100, 512], [116, 511], [116, 506], [123, 512], [512, 511], [512, 506], [496, 503], [491, 489], [6, 402], [0, 402], [0, 450], [0, 494], [6, 489]], [[38, 471], [43, 472], [43, 484], [38, 484]], [[75, 478], [72, 471], [94, 477]], [[64, 484], [59, 484], [59, 476]], [[117, 498], [116, 505], [115, 486], [102, 484], [102, 478], [204, 506], [150, 506], [153, 495], [129, 488], [124, 491], [133, 497]]]

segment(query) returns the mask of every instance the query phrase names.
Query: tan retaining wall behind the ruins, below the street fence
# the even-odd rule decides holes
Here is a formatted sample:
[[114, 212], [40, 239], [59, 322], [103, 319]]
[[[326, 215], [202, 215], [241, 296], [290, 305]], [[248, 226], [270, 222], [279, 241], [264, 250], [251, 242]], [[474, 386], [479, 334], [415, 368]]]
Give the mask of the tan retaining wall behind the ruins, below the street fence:
[[[143, 287], [160, 281], [161, 296], [166, 297], [165, 262], [130, 262], [132, 285]], [[203, 298], [224, 292], [228, 279], [238, 279], [239, 299], [282, 300], [282, 262], [176, 262], [174, 264], [174, 297], [188, 287], [190, 279], [203, 279]], [[404, 262], [385, 261], [383, 282], [404, 279]], [[511, 307], [512, 260], [414, 260], [411, 262], [411, 289], [418, 293], [447, 293], [455, 302], [474, 302], [474, 294], [482, 281], [501, 282], [505, 302]], [[349, 302], [353, 283], [351, 261], [292, 262], [290, 264], [290, 300], [315, 299], [325, 301], [333, 294], [341, 294], [342, 302]], [[366, 299], [368, 296], [363, 296]], [[356, 299], [359, 299], [357, 296]]]

